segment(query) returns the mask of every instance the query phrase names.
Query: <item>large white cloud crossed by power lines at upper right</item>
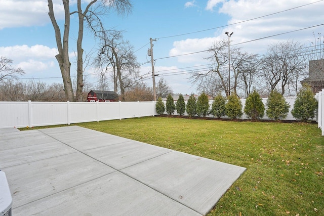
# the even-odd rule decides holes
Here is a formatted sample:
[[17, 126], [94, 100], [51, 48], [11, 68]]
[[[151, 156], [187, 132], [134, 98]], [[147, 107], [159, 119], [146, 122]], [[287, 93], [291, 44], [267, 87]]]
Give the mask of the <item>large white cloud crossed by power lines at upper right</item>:
[[[220, 0], [210, 0], [206, 9], [213, 9]], [[294, 7], [299, 7], [311, 3], [311, 0], [287, 0], [287, 1], [268, 1], [268, 0], [230, 0], [222, 2], [219, 8], [219, 13], [227, 14], [230, 17], [228, 24], [238, 23], [217, 29], [215, 37], [206, 38], [187, 38], [174, 41], [173, 49], [169, 55], [183, 55], [187, 53], [199, 52], [211, 47], [216, 40], [227, 39], [225, 31], [234, 32], [231, 36], [231, 45], [240, 44], [242, 42], [251, 41], [271, 35], [294, 31], [314, 25], [322, 24], [324, 14], [321, 12], [324, 2], [318, 2], [308, 6], [300, 7], [294, 10], [289, 10], [282, 13], [277, 13], [271, 16], [266, 16], [259, 19], [257, 17], [265, 16], [271, 13], [285, 11]], [[247, 22], [245, 20], [254, 19]], [[265, 39], [247, 42], [237, 45], [242, 47], [246, 52], [264, 54], [270, 44], [277, 41], [294, 40], [302, 44], [309, 45], [308, 40], [313, 40], [312, 32], [322, 32], [323, 27], [310, 28], [307, 30], [297, 31], [294, 33], [278, 35]], [[197, 57], [198, 55], [198, 57]], [[205, 57], [208, 54], [204, 54]], [[194, 54], [178, 57], [178, 61], [197, 63], [204, 57], [203, 54]]]

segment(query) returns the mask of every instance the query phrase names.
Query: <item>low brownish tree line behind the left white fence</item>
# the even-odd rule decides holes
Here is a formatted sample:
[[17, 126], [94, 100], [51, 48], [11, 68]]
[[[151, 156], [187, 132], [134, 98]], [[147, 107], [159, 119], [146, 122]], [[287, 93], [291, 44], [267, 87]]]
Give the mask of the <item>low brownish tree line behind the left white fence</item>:
[[[98, 83], [93, 85], [84, 81], [85, 86], [82, 93], [82, 101], [87, 101], [88, 93], [91, 90], [107, 90], [105, 85]], [[75, 86], [75, 85], [74, 85]], [[75, 89], [74, 89], [75, 90]], [[172, 94], [172, 89], [167, 81], [160, 78], [157, 82], [156, 92], [158, 97], [165, 98]], [[0, 80], [0, 101], [67, 101], [64, 85], [62, 83], [42, 82], [39, 80], [18, 81], [15, 78]], [[153, 89], [145, 83], [136, 83], [125, 90], [121, 101], [152, 101]]]

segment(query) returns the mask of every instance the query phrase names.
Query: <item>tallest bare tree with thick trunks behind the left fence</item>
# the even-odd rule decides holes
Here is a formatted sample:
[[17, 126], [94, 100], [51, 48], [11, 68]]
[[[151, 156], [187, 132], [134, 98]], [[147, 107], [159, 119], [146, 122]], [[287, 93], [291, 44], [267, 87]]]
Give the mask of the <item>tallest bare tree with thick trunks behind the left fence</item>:
[[69, 46], [69, 31], [70, 31], [70, 15], [76, 13], [78, 15], [78, 38], [76, 42], [77, 49], [77, 81], [76, 81], [76, 101], [82, 101], [83, 92], [83, 35], [84, 35], [84, 22], [86, 21], [90, 29], [93, 30], [95, 35], [98, 32], [104, 31], [103, 24], [100, 20], [100, 16], [107, 14], [110, 8], [114, 8], [119, 14], [128, 13], [131, 10], [131, 3], [129, 0], [92, 0], [88, 1], [84, 10], [82, 10], [82, 1], [77, 0], [77, 11], [70, 13], [69, 0], [62, 0], [64, 7], [64, 33], [63, 40], [61, 36], [61, 30], [57, 24], [56, 18], [54, 16], [53, 2], [48, 0], [49, 16], [52, 21], [54, 30], [56, 44], [59, 54], [56, 59], [59, 63], [60, 70], [62, 73], [63, 84], [65, 89], [66, 98], [70, 101], [74, 101], [72, 81], [70, 76], [70, 61], [68, 56], [68, 46]]

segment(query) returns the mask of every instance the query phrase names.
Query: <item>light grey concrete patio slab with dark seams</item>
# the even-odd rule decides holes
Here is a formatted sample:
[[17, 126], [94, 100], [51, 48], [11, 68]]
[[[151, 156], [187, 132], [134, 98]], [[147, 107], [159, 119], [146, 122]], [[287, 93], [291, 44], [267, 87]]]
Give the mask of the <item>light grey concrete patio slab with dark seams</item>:
[[205, 215], [246, 168], [79, 126], [0, 129], [13, 215]]

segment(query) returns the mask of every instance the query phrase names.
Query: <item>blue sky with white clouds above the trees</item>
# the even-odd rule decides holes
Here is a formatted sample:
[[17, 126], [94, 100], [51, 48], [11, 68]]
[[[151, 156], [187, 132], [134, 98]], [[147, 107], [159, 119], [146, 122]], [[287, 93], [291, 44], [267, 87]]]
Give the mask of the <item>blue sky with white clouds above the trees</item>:
[[[84, 0], [84, 7], [89, 0]], [[123, 30], [134, 47], [141, 66], [140, 77], [152, 86], [151, 64], [147, 55], [153, 41], [155, 82], [164, 78], [174, 93], [199, 93], [190, 82], [193, 70], [206, 68], [205, 51], [215, 41], [228, 39], [230, 45], [253, 54], [265, 54], [269, 45], [280, 41], [299, 41], [307, 46], [324, 36], [324, 1], [318, 0], [131, 0], [132, 12], [118, 15], [110, 11], [102, 18], [107, 29]], [[53, 0], [59, 24], [64, 20], [62, 1]], [[76, 0], [70, 1], [75, 8]], [[77, 19], [71, 17], [71, 75], [76, 74], [75, 55]], [[320, 35], [318, 33], [321, 33]], [[314, 37], [315, 34], [315, 37]], [[273, 36], [276, 35], [276, 36]], [[95, 55], [98, 41], [85, 31], [85, 53]], [[196, 54], [190, 54], [196, 53]], [[13, 60], [30, 79], [62, 83], [55, 55], [55, 34], [48, 16], [46, 0], [0, 0], [0, 56]], [[190, 54], [190, 55], [183, 55]], [[144, 64], [146, 63], [146, 64]], [[98, 71], [89, 65], [85, 70], [88, 83], [98, 82]], [[73, 77], [72, 77], [73, 78]], [[110, 85], [110, 90], [113, 85]]]

